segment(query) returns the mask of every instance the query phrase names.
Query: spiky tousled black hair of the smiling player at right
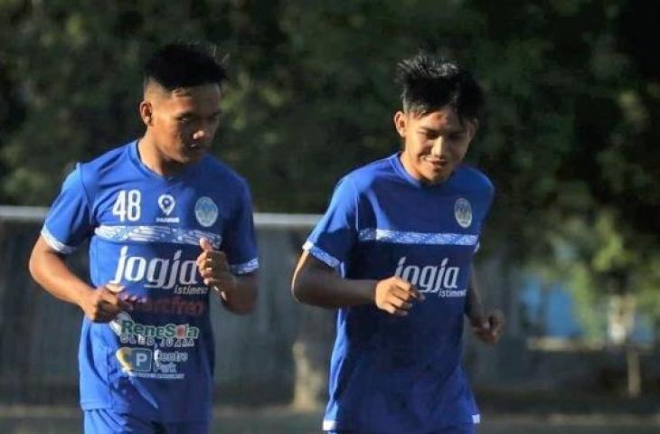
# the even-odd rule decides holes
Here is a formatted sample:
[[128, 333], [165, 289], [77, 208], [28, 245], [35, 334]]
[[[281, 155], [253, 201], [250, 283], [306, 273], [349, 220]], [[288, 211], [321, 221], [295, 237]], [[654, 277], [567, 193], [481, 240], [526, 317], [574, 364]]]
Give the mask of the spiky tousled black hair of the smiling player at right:
[[397, 70], [403, 111], [426, 115], [449, 104], [461, 122], [481, 118], [484, 92], [457, 63], [420, 52], [400, 61]]

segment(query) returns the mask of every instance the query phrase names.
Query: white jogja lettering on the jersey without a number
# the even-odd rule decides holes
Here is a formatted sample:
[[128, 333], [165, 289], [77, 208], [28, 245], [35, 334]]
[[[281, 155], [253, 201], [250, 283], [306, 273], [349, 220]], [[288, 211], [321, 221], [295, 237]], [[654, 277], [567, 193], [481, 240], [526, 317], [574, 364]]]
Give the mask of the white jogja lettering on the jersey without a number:
[[[460, 268], [448, 267], [448, 258], [442, 259], [440, 265], [425, 267], [407, 265], [406, 259], [405, 256], [399, 259], [395, 275], [415, 285], [420, 292], [438, 293], [440, 297], [449, 297], [446, 292], [452, 289], [454, 291], [451, 292], [464, 292], [456, 291]], [[461, 296], [457, 294], [454, 297]]]

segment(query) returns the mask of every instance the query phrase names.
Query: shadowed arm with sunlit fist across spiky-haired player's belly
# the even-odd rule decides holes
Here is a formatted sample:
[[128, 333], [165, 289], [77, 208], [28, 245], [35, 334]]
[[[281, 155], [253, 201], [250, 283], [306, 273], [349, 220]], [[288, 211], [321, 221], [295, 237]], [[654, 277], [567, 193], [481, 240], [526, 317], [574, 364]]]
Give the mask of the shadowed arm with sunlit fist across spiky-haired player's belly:
[[406, 280], [341, 278], [335, 270], [303, 251], [291, 281], [291, 292], [302, 303], [337, 308], [374, 304], [396, 316], [406, 316], [423, 295]]

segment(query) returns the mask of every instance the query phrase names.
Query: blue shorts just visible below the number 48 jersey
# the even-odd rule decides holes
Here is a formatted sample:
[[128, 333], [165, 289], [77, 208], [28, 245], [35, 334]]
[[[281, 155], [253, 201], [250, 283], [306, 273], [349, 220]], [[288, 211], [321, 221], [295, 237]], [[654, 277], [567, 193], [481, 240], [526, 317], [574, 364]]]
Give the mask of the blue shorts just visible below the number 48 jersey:
[[161, 423], [114, 410], [85, 410], [85, 434], [206, 434], [209, 421]]

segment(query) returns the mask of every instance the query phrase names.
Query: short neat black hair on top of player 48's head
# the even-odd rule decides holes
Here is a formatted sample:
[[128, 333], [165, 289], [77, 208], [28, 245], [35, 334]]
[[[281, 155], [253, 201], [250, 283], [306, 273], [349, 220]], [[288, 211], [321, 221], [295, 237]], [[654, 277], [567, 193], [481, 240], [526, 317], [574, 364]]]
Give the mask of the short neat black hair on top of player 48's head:
[[156, 81], [165, 90], [216, 83], [227, 73], [210, 46], [200, 42], [173, 42], [160, 48], [145, 63], [144, 86]]

